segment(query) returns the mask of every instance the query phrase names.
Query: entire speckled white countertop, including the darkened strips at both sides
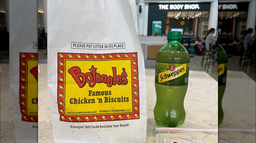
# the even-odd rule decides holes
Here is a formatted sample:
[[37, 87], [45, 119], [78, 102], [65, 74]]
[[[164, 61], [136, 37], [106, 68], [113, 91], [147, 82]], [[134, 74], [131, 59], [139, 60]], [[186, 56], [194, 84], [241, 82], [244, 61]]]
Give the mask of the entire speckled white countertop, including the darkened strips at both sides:
[[[39, 105], [38, 143], [53, 142], [52, 113], [47, 88], [47, 64], [39, 64]], [[9, 64], [1, 63], [1, 143], [14, 143], [14, 121], [11, 92], [9, 86]], [[147, 142], [155, 142], [157, 132], [153, 108], [156, 102], [154, 69], [146, 69], [147, 80]], [[179, 127], [217, 128], [217, 82], [206, 72], [190, 71], [189, 87], [185, 96], [186, 119]], [[228, 71], [223, 97], [224, 119], [219, 128], [254, 128], [255, 125], [255, 81], [243, 71]], [[206, 101], [206, 102], [204, 102]], [[163, 132], [164, 133], [164, 132]], [[215, 135], [217, 136], [217, 135]], [[255, 142], [255, 132], [219, 132], [219, 137], [242, 138]], [[249, 141], [250, 142], [250, 141]]]

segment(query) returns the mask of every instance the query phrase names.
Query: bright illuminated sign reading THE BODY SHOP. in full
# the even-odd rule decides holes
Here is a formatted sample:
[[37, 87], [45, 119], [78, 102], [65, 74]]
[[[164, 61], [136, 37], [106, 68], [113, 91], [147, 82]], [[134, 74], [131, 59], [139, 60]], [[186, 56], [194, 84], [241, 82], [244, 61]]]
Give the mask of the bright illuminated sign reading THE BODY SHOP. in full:
[[198, 4], [189, 5], [159, 5], [159, 9], [200, 9]]

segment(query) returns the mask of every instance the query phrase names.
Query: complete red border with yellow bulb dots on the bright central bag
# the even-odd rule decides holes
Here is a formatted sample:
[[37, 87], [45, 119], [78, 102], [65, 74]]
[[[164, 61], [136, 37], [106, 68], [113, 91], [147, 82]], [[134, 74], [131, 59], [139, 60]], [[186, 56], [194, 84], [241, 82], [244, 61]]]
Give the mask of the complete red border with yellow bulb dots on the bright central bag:
[[[65, 97], [65, 60], [111, 60], [111, 59], [131, 59], [132, 67], [132, 113], [115, 113], [101, 115], [82, 115], [82, 116], [67, 116], [64, 109]], [[63, 71], [63, 72], [60, 72]], [[128, 75], [129, 76], [129, 75]], [[138, 73], [138, 58], [137, 53], [111, 53], [111, 54], [77, 54], [77, 53], [58, 53], [58, 87], [57, 87], [57, 102], [60, 121], [67, 122], [94, 122], [94, 121], [112, 121], [112, 120], [127, 120], [139, 119], [139, 73]], [[134, 78], [136, 77], [136, 78]], [[64, 80], [60, 81], [62, 78]], [[62, 88], [60, 89], [59, 87]], [[62, 96], [59, 96], [62, 94]]]

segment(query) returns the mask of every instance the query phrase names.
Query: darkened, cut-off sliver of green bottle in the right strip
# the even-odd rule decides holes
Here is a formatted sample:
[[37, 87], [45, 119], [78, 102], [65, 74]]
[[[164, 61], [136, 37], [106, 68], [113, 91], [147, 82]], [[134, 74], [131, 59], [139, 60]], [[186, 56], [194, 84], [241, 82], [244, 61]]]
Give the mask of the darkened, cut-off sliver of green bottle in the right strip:
[[226, 88], [228, 56], [224, 48], [218, 44], [218, 124], [223, 120], [222, 98]]

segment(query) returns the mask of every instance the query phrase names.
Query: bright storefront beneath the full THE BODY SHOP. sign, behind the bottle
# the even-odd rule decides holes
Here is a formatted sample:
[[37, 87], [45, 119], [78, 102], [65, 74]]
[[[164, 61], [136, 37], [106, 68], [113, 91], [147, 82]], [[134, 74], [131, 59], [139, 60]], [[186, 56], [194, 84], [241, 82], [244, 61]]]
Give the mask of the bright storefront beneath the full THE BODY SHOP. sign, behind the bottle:
[[[168, 31], [181, 31], [183, 35], [202, 37], [208, 25], [200, 25], [209, 20], [211, 3], [149, 3], [147, 35], [155, 31], [159, 36]], [[200, 29], [199, 29], [200, 28]]]

